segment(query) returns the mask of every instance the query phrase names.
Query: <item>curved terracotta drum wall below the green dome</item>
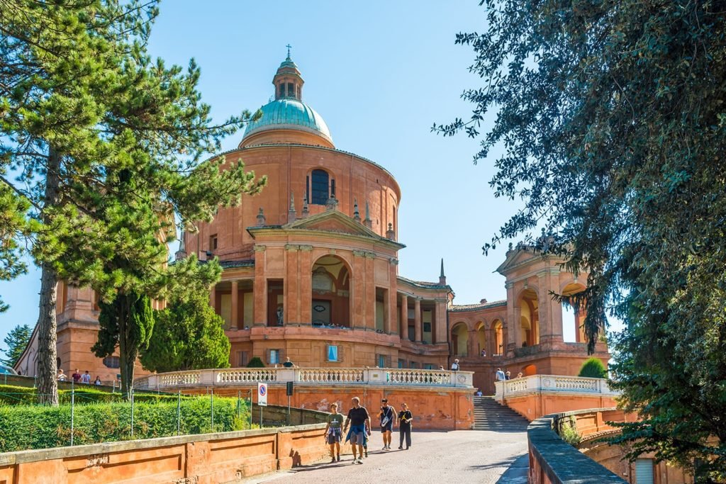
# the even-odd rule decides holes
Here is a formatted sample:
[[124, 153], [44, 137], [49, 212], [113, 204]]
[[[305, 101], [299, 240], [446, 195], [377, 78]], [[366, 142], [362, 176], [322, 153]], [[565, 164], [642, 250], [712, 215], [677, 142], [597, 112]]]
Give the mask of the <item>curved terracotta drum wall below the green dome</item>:
[[[210, 251], [222, 260], [253, 258], [255, 240], [247, 228], [257, 225], [258, 210], [263, 209], [266, 225], [284, 225], [290, 221], [292, 193], [296, 217], [301, 218], [306, 185], [310, 184], [315, 169], [327, 171], [330, 181], [335, 180], [336, 210], [352, 218], [357, 200], [363, 220], [368, 200], [372, 231], [386, 237], [388, 223], [391, 223], [397, 232], [399, 185], [388, 171], [370, 161], [334, 149], [301, 145], [248, 147], [225, 156], [227, 163], [242, 161], [245, 169], [254, 171], [256, 176], [266, 175], [267, 186], [254, 197], [244, 195], [239, 207], [220, 209], [213, 221], [198, 223], [196, 233], [185, 234], [188, 253], [196, 252], [204, 258], [203, 254]], [[312, 203], [308, 208], [311, 216], [326, 210], [325, 205]]]

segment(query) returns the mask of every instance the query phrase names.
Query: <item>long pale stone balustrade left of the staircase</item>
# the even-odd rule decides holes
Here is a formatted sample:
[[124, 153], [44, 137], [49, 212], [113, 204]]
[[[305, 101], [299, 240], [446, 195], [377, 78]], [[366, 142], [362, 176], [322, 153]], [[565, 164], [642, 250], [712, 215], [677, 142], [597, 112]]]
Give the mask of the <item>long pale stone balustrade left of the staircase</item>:
[[473, 389], [473, 372], [393, 368], [225, 368], [152, 374], [134, 381], [136, 390], [233, 387], [256, 382], [305, 385], [390, 385]]

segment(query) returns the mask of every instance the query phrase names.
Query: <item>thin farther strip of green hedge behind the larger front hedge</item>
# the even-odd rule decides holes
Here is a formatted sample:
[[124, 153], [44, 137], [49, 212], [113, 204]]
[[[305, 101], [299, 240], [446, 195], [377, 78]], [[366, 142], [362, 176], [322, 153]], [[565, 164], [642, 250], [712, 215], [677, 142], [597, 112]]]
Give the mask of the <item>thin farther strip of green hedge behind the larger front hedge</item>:
[[[58, 390], [59, 403], [70, 403], [71, 390]], [[121, 393], [110, 393], [104, 390], [97, 390], [88, 385], [79, 385], [75, 389], [76, 403], [111, 403], [123, 401]], [[182, 396], [182, 398], [187, 398]], [[157, 402], [174, 401], [176, 395], [156, 393], [134, 393], [134, 401]], [[0, 405], [33, 405], [37, 403], [36, 389], [30, 387], [15, 387], [12, 385], [0, 385]]]

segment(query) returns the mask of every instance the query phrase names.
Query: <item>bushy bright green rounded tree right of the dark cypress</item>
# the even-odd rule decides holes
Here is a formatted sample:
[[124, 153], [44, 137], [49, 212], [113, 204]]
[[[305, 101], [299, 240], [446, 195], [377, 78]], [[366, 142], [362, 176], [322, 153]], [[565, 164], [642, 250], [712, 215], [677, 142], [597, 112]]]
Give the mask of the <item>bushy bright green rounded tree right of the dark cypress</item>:
[[224, 320], [209, 305], [208, 291], [195, 291], [184, 300], [172, 298], [157, 311], [156, 324], [141, 362], [152, 372], [227, 368], [229, 339]]

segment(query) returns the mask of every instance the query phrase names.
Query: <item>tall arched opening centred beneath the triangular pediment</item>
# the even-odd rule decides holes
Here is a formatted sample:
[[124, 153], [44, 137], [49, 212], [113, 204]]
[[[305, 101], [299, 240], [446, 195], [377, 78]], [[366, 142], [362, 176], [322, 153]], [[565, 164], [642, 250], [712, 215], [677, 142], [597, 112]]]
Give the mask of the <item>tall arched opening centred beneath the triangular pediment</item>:
[[343, 259], [323, 255], [312, 269], [312, 324], [317, 327], [351, 327], [351, 272]]

